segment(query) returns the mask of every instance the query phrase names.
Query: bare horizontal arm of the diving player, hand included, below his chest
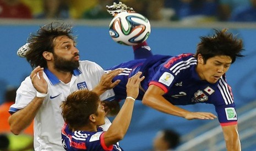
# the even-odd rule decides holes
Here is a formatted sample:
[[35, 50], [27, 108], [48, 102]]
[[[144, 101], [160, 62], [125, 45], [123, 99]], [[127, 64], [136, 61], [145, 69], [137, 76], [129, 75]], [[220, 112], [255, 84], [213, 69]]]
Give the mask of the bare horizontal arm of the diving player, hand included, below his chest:
[[183, 117], [188, 120], [192, 119], [214, 119], [217, 118], [214, 114], [208, 112], [189, 112], [186, 109], [174, 106], [168, 102], [162, 95], [165, 92], [161, 88], [155, 85], [150, 85], [146, 90], [142, 103], [146, 106], [154, 108], [160, 112], [164, 112], [178, 117]]

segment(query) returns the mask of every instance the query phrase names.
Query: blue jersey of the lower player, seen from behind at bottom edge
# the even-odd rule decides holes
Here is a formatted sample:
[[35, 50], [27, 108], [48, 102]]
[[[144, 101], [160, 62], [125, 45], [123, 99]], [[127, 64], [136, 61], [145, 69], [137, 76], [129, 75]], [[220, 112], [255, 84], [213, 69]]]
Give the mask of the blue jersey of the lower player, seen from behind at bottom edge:
[[98, 127], [96, 132], [70, 131], [67, 124], [62, 127], [62, 146], [65, 150], [123, 150], [118, 144], [106, 146], [104, 142], [104, 130]]

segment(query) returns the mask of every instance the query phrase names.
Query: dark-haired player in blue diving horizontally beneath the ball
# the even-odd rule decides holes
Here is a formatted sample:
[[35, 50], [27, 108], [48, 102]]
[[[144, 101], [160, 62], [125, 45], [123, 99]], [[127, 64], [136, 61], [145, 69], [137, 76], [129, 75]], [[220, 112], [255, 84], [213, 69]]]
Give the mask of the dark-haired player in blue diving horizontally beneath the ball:
[[226, 30], [215, 30], [213, 36], [200, 37], [195, 54], [177, 56], [152, 55], [144, 42], [133, 47], [135, 60], [112, 67], [125, 69], [114, 80], [121, 80], [113, 90], [117, 100], [126, 96], [127, 79], [137, 72], [145, 76], [140, 83], [138, 100], [146, 106], [178, 117], [214, 119], [208, 112], [189, 112], [176, 105], [214, 104], [222, 126], [227, 150], [241, 150], [237, 114], [225, 73], [237, 58], [243, 57], [243, 43]]

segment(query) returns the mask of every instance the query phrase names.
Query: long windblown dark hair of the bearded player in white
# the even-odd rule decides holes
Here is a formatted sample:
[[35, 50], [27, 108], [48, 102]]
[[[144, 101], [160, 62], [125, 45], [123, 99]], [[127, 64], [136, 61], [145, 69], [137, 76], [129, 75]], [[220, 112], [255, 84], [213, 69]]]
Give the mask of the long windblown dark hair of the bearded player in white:
[[41, 26], [35, 34], [30, 34], [28, 38], [29, 51], [26, 54], [26, 60], [30, 63], [32, 68], [37, 66], [47, 67], [45, 58], [42, 56], [44, 51], [53, 53], [55, 47], [54, 40], [59, 36], [67, 36], [75, 40], [72, 35], [72, 26], [69, 24], [51, 22]]

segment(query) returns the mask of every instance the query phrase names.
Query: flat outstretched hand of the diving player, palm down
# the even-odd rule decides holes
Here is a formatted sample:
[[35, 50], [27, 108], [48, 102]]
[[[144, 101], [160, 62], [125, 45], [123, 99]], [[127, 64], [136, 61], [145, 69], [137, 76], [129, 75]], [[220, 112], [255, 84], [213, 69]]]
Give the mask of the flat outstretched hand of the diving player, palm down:
[[189, 112], [187, 115], [184, 117], [187, 120], [192, 120], [192, 119], [215, 119], [217, 118], [213, 113], [209, 112]]

